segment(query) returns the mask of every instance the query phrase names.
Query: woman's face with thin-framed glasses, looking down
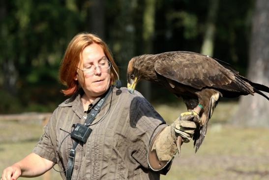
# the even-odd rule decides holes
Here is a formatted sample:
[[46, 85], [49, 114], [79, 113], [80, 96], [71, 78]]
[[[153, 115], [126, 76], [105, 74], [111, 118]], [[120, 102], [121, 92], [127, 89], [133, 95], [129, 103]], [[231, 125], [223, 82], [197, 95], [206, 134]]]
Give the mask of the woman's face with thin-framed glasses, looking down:
[[[104, 68], [107, 62], [103, 48], [96, 44], [85, 47], [81, 54], [76, 79], [88, 98], [96, 98], [104, 94], [110, 86], [110, 68]], [[97, 67], [97, 68], [96, 68]], [[85, 70], [93, 70], [92, 73]], [[81, 71], [84, 70], [84, 71]]]

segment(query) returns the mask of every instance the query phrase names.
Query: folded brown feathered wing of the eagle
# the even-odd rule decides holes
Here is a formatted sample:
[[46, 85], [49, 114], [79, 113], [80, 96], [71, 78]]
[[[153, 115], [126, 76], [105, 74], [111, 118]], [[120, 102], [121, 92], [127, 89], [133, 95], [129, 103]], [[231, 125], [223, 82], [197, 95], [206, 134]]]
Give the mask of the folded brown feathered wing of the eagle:
[[236, 79], [231, 70], [213, 58], [186, 51], [159, 56], [154, 68], [158, 74], [168, 79], [197, 89], [227, 85]]

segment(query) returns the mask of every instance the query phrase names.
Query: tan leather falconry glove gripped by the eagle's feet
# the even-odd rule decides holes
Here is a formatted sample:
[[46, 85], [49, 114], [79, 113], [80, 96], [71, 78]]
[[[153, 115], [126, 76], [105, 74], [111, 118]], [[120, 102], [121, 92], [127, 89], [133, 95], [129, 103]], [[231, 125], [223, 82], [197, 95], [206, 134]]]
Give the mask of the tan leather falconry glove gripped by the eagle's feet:
[[[179, 152], [179, 139], [182, 142], [188, 143], [192, 138], [197, 127], [197, 122], [192, 121], [194, 114], [181, 113], [179, 118], [174, 121], [171, 126], [165, 127], [153, 140], [149, 147], [149, 166], [151, 169], [157, 171], [165, 167]], [[152, 160], [152, 152], [155, 151], [157, 160]]]

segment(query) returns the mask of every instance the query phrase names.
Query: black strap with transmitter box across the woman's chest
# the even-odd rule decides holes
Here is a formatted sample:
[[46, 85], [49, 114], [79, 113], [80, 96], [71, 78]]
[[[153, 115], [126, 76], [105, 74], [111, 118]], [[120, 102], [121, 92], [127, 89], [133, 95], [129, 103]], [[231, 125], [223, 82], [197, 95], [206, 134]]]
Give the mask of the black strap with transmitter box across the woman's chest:
[[109, 88], [106, 95], [101, 98], [95, 105], [90, 109], [90, 112], [87, 113], [87, 118], [84, 124], [77, 123], [74, 125], [75, 129], [71, 132], [72, 139], [75, 139], [73, 143], [73, 147], [70, 149], [69, 158], [67, 162], [67, 170], [66, 170], [66, 180], [71, 180], [72, 172], [74, 168], [74, 159], [75, 159], [75, 149], [80, 142], [86, 143], [87, 139], [90, 136], [92, 129], [89, 128], [89, 125], [95, 119], [95, 116], [100, 111], [100, 108], [104, 104], [105, 100], [108, 98], [110, 92], [112, 91], [112, 87]]

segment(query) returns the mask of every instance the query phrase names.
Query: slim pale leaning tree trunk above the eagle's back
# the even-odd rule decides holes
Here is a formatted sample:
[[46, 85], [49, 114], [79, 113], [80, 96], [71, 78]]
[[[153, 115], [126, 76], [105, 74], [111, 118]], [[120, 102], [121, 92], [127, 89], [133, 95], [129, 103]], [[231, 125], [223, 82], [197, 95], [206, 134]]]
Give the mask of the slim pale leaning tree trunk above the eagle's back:
[[206, 33], [202, 44], [201, 54], [213, 56], [215, 21], [217, 17], [219, 0], [210, 0], [209, 14], [207, 20]]

